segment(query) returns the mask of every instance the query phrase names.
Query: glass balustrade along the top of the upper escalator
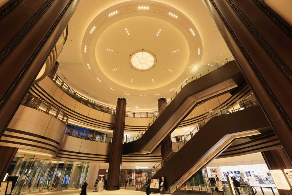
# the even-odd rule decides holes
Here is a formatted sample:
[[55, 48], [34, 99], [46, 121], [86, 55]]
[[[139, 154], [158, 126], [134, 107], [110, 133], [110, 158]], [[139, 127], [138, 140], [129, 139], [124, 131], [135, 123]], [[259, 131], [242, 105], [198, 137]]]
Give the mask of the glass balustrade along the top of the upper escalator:
[[231, 53], [225, 54], [224, 56], [218, 58], [217, 60], [211, 62], [208, 65], [203, 66], [202, 68], [200, 68], [199, 73], [192, 73], [190, 75], [187, 75], [184, 80], [179, 84], [179, 86], [173, 90], [172, 94], [166, 99], [166, 104], [163, 105], [162, 108], [160, 108], [159, 113], [155, 116], [155, 118], [150, 119], [149, 122], [147, 122], [147, 125], [145, 125], [145, 127], [142, 128], [141, 133], [139, 132], [139, 134], [134, 135], [133, 137], [129, 137], [126, 139], [126, 141], [124, 143], [128, 143], [131, 141], [135, 141], [137, 139], [140, 139], [142, 137], [142, 135], [149, 129], [149, 127], [154, 123], [154, 121], [158, 118], [158, 116], [165, 110], [165, 108], [168, 106], [168, 104], [176, 97], [176, 95], [180, 92], [180, 90], [183, 89], [183, 87], [185, 85], [187, 85], [188, 83], [196, 80], [197, 78], [200, 78], [210, 72], [212, 72], [213, 70], [218, 69], [219, 67], [225, 65], [227, 62], [234, 60], [233, 56]]

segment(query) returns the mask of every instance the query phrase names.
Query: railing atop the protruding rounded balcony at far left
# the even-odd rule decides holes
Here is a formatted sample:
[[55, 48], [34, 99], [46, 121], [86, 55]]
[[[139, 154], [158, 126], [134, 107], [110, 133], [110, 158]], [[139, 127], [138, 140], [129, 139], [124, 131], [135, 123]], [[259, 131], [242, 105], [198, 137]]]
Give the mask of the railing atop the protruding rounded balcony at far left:
[[53, 117], [61, 120], [65, 125], [68, 122], [68, 116], [64, 111], [52, 103], [42, 100], [36, 96], [27, 94], [21, 104], [52, 115]]

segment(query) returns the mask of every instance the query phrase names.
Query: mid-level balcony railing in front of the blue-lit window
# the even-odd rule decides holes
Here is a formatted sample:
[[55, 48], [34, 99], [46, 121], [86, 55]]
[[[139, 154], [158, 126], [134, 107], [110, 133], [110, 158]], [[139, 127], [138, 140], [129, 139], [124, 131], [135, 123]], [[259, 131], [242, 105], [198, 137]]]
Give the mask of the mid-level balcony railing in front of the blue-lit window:
[[65, 134], [72, 136], [72, 137], [78, 137], [80, 139], [86, 139], [91, 141], [98, 141], [98, 142], [104, 142], [104, 143], [112, 143], [112, 137], [108, 136], [100, 136], [95, 135], [92, 133], [86, 133], [83, 131], [78, 131], [76, 129], [68, 128], [65, 131]]

